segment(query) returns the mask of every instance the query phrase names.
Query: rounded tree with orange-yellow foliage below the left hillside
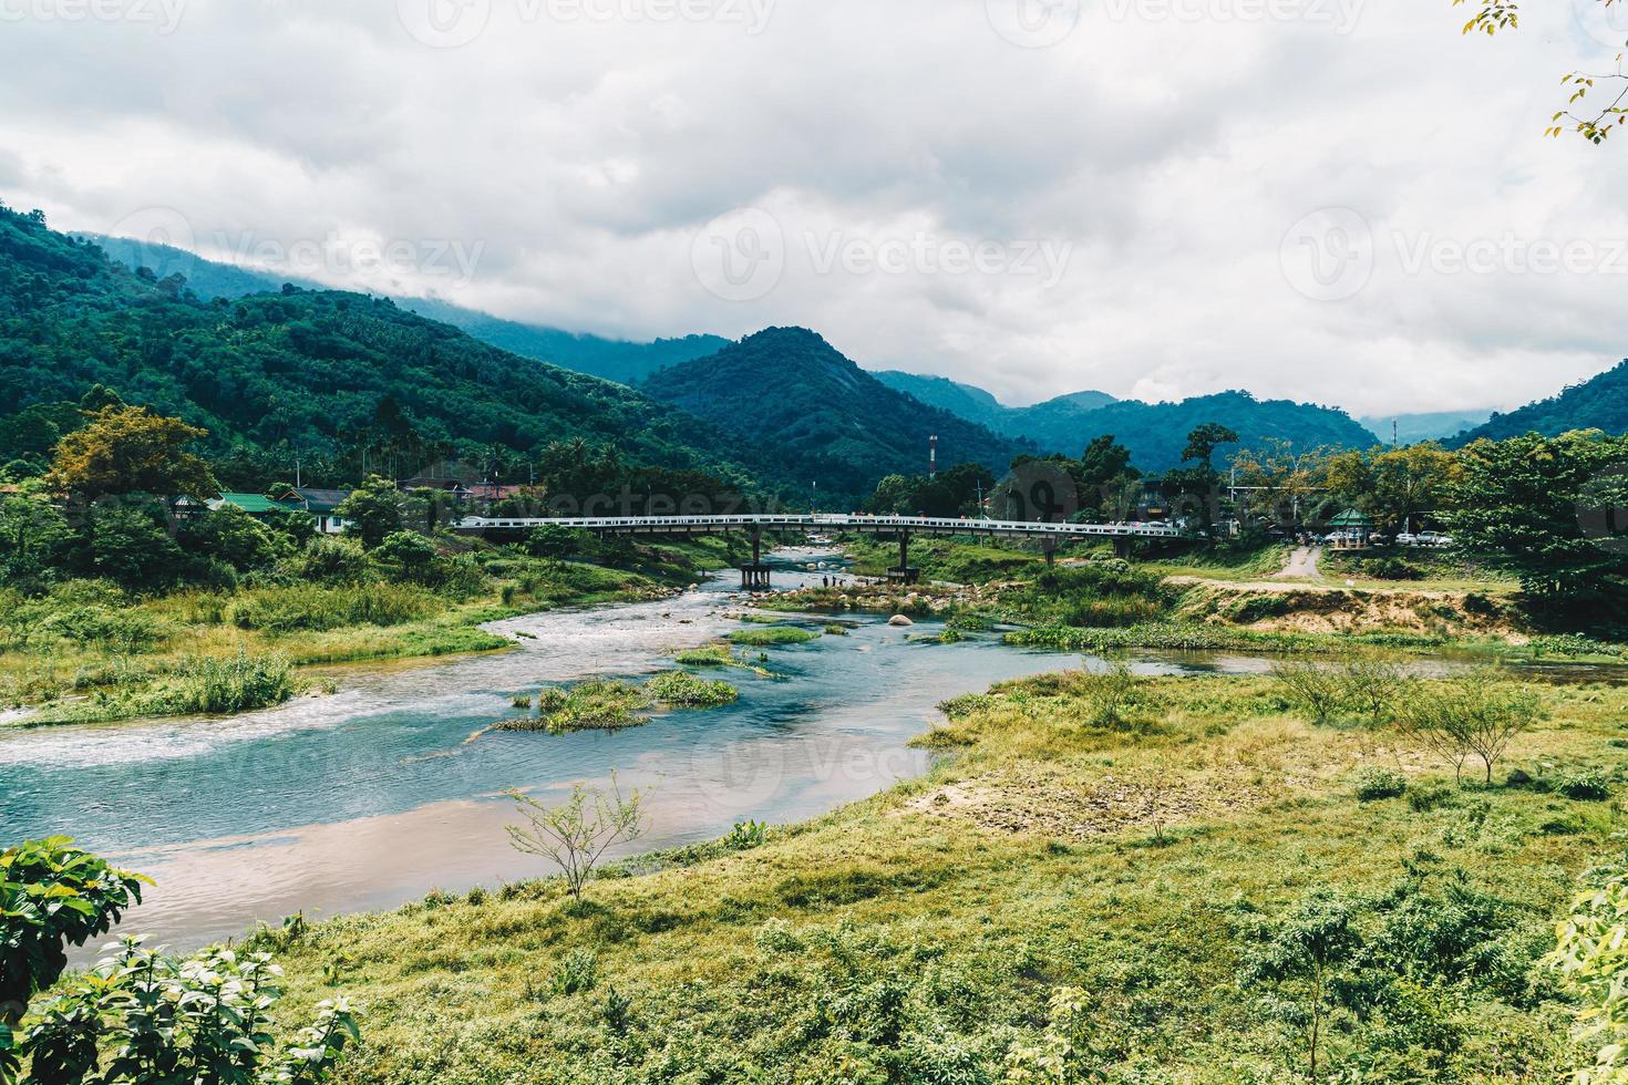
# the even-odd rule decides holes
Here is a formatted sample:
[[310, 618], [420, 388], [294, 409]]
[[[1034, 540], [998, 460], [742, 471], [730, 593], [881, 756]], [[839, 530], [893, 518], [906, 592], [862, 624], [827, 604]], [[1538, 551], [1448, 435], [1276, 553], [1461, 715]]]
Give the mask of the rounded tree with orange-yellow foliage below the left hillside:
[[46, 485], [86, 499], [130, 493], [208, 499], [220, 483], [186, 451], [205, 436], [207, 429], [145, 407], [104, 407], [57, 442]]

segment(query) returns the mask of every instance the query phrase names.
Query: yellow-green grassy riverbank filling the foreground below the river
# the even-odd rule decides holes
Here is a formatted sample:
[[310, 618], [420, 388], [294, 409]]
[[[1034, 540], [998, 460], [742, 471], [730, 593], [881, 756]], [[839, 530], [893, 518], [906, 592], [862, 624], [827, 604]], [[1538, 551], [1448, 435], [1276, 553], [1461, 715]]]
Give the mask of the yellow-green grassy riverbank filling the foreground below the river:
[[[993, 1082], [1045, 1043], [1060, 987], [1114, 1080], [1286, 1082], [1294, 989], [1245, 961], [1327, 890], [1405, 978], [1384, 1015], [1338, 1018], [1327, 1065], [1553, 1080], [1566, 1026], [1537, 960], [1621, 828], [1628, 693], [1542, 698], [1498, 786], [1459, 787], [1265, 678], [1146, 680], [1117, 722], [1092, 680], [1029, 678], [957, 701], [926, 776], [741, 851], [645, 857], [584, 914], [540, 880], [259, 943], [298, 1002], [370, 1007], [348, 1082]], [[1374, 797], [1364, 769], [1402, 786]]]

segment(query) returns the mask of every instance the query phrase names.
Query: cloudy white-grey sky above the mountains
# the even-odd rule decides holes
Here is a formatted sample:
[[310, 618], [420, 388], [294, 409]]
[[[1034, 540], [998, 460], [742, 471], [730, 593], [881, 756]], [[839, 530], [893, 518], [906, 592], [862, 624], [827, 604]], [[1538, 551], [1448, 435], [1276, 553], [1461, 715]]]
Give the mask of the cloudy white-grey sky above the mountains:
[[[1613, 5], [1621, 16], [1623, 5]], [[1024, 403], [1512, 407], [1628, 355], [1599, 0], [0, 0], [0, 200]]]

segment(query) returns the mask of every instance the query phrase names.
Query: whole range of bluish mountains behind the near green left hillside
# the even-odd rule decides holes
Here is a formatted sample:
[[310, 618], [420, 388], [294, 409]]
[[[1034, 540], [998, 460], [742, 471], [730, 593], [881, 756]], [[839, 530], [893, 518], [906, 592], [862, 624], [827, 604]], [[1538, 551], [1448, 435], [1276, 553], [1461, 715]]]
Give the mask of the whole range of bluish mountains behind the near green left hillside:
[[[205, 260], [182, 249], [117, 237], [91, 239], [116, 260], [151, 268], [153, 275], [135, 277], [148, 290], [163, 293], [163, 280], [179, 273], [186, 278], [186, 291], [200, 303], [285, 296], [285, 280], [274, 273]], [[943, 465], [977, 460], [1000, 468], [1021, 451], [1078, 455], [1091, 439], [1114, 434], [1131, 449], [1138, 467], [1159, 472], [1180, 462], [1185, 434], [1206, 421], [1231, 426], [1245, 444], [1283, 438], [1301, 447], [1366, 447], [1389, 442], [1392, 434], [1402, 442], [1449, 439], [1464, 444], [1527, 429], [1560, 433], [1597, 426], [1628, 431], [1628, 361], [1508, 415], [1426, 412], [1358, 421], [1337, 408], [1258, 400], [1242, 390], [1166, 403], [1117, 400], [1105, 392], [1084, 390], [1029, 407], [1008, 407], [985, 389], [947, 377], [869, 373], [806, 329], [768, 329], [741, 343], [716, 335], [635, 343], [506, 320], [440, 299], [371, 299], [327, 291], [316, 283], [293, 285], [303, 288], [295, 298], [355, 298], [345, 303], [352, 311], [366, 303], [389, 306], [397, 317], [422, 314], [430, 319], [427, 327], [443, 329], [443, 335], [449, 325], [498, 348], [511, 359], [508, 364], [519, 356], [550, 363], [542, 373], [560, 366], [632, 386], [645, 394], [632, 402], [661, 400], [679, 408], [676, 418], [698, 423], [692, 429], [703, 446], [695, 451], [700, 460], [723, 457], [737, 465], [752, 460], [770, 477], [799, 480], [799, 486], [819, 480], [834, 495], [861, 495], [882, 473], [920, 472], [930, 433], [939, 438]], [[599, 392], [627, 395], [625, 389], [612, 394], [601, 387]], [[679, 431], [684, 425], [679, 423]], [[461, 421], [448, 418], [446, 426], [457, 429]], [[588, 421], [586, 429], [594, 425]], [[516, 429], [516, 439], [519, 433]], [[682, 438], [676, 442], [687, 444]]]

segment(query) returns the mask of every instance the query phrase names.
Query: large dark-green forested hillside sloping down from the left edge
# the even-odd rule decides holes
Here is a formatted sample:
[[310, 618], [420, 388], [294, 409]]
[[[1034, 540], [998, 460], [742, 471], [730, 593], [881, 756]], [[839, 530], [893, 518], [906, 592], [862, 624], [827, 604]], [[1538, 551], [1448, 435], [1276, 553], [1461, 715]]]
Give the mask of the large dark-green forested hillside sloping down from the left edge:
[[505, 353], [389, 299], [288, 286], [202, 301], [37, 213], [0, 208], [0, 462], [37, 459], [96, 384], [208, 428], [208, 452], [233, 478], [285, 473], [300, 455], [308, 478], [355, 481], [370, 449], [374, 465], [386, 454], [407, 464], [402, 473], [440, 455], [519, 470], [550, 449], [583, 459], [596, 447], [736, 480], [773, 468], [742, 464], [739, 441], [632, 389]]

